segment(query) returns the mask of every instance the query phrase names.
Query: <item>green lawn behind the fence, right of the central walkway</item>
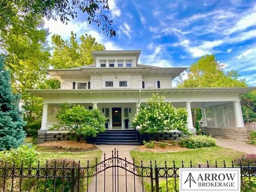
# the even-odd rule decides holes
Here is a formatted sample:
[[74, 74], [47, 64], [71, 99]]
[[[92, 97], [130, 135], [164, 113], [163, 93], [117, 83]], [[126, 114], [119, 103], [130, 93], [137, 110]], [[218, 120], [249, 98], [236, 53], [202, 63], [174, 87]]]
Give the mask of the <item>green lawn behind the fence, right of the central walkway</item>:
[[167, 166], [172, 167], [174, 160], [176, 166], [181, 166], [181, 161], [183, 160], [184, 166], [190, 166], [190, 160], [192, 160], [192, 166], [198, 166], [198, 164], [206, 165], [206, 161], [208, 160], [209, 164], [214, 166], [215, 160], [217, 160], [218, 166], [221, 167], [223, 165], [223, 160], [225, 160], [226, 166], [231, 166], [231, 161], [239, 158], [243, 153], [220, 146], [214, 146], [166, 153], [140, 152], [138, 150], [132, 150], [130, 154], [132, 158], [135, 159], [136, 165], [140, 165], [140, 161], [143, 160], [144, 166], [149, 166], [150, 160], [156, 160], [157, 166], [161, 167], [164, 166], [164, 161], [166, 160]]

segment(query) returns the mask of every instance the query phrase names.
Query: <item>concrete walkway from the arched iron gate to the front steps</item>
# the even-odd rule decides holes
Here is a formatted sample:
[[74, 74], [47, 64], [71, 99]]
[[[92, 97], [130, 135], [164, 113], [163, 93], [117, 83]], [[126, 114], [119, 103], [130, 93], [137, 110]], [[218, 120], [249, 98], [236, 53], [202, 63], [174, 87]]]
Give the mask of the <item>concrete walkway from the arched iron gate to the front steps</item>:
[[[132, 157], [130, 156], [130, 150], [133, 150], [137, 146], [126, 146], [126, 145], [96, 145], [97, 148], [102, 150], [102, 157], [100, 161], [104, 160], [104, 153], [106, 153], [106, 159], [112, 157], [112, 150], [116, 148], [118, 150], [118, 157], [120, 158], [126, 158], [126, 160], [130, 163], [132, 163]], [[106, 162], [106, 164], [112, 165], [112, 162]], [[121, 164], [124, 165], [125, 162], [117, 162], [116, 165], [118, 164], [119, 166]], [[115, 162], [114, 162], [115, 164]], [[106, 165], [107, 166], [107, 165]], [[100, 167], [98, 167], [100, 169]], [[101, 168], [102, 170], [104, 168]], [[129, 167], [127, 167], [129, 169]], [[114, 174], [112, 174], [114, 172]], [[116, 178], [115, 176], [116, 172]], [[118, 174], [117, 174], [118, 173]], [[115, 184], [116, 183], [116, 184]], [[127, 184], [126, 184], [127, 183]], [[113, 190], [114, 186], [114, 190]], [[115, 189], [116, 186], [116, 189]], [[134, 174], [130, 172], [126, 172], [122, 168], [109, 168], [106, 169], [105, 172], [105, 192], [126, 192], [126, 187], [127, 187], [127, 192], [134, 192]], [[138, 176], [135, 176], [135, 187], [136, 187], [136, 192], [142, 192], [142, 182]], [[96, 176], [92, 178], [92, 182], [89, 186], [88, 189], [89, 192], [96, 192]], [[101, 172], [97, 175], [97, 192], [104, 192], [104, 172]]]

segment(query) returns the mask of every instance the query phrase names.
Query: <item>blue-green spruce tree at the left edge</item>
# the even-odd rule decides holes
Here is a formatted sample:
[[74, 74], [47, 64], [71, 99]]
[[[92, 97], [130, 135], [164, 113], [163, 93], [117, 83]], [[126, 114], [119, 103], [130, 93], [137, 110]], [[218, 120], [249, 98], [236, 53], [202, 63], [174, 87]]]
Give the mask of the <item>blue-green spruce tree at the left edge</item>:
[[0, 150], [17, 148], [26, 137], [19, 96], [12, 93], [10, 73], [0, 58]]

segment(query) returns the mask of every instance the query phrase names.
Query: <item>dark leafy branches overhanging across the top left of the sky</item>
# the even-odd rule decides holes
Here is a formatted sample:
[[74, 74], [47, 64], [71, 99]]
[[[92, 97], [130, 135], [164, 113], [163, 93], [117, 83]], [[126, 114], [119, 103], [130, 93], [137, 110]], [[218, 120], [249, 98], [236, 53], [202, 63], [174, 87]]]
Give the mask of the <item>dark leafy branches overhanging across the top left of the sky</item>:
[[102, 31], [107, 36], [116, 36], [116, 31], [111, 27], [109, 20], [102, 10], [108, 10], [108, 0], [3, 0], [0, 1], [0, 30], [8, 31], [18, 24], [20, 28], [27, 28], [36, 22], [38, 15], [60, 20], [66, 23], [70, 18], [77, 17], [77, 10], [88, 15], [89, 24], [96, 23], [102, 26]]

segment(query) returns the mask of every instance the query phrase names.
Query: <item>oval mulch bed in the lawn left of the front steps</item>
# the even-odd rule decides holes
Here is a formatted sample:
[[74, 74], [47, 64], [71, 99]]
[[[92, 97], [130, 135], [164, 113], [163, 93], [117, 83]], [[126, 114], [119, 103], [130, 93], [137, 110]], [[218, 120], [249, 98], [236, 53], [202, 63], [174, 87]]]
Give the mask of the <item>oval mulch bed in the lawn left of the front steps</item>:
[[91, 150], [96, 148], [93, 144], [88, 144], [85, 141], [52, 141], [38, 144], [38, 146], [46, 148], [60, 148], [67, 150]]

